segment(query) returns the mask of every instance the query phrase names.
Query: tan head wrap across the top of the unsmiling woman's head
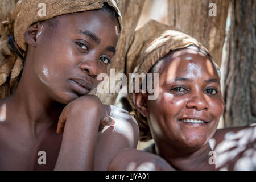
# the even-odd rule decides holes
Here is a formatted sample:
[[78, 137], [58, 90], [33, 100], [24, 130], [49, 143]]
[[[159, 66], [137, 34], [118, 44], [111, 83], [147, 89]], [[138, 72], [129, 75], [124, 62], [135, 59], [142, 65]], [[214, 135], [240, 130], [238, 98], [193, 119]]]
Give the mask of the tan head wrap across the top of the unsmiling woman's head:
[[[14, 38], [16, 43], [21, 49], [26, 50], [26, 42], [23, 35], [27, 28], [35, 22], [41, 22], [68, 13], [101, 9], [104, 6], [104, 2], [113, 6], [117, 11], [119, 24], [122, 27], [122, 16], [114, 0], [19, 0], [15, 8]], [[42, 3], [46, 6], [46, 16], [40, 15], [40, 9], [44, 6]]]

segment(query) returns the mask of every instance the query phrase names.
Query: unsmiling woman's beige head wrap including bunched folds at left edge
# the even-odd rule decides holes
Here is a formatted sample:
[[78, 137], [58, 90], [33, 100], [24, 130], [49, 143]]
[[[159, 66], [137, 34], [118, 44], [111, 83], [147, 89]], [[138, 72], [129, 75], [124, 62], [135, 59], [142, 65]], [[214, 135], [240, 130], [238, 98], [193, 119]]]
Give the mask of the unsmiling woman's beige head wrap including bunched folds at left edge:
[[[114, 7], [117, 12], [122, 31], [121, 13], [114, 0], [19, 0], [13, 15], [15, 19], [15, 42], [20, 49], [26, 51], [24, 32], [33, 23], [59, 15], [101, 9], [105, 2]], [[45, 14], [42, 14], [44, 6]], [[0, 41], [0, 98], [6, 97], [15, 91], [22, 69], [23, 60], [11, 48], [9, 40]], [[10, 81], [8, 82], [9, 78]]]

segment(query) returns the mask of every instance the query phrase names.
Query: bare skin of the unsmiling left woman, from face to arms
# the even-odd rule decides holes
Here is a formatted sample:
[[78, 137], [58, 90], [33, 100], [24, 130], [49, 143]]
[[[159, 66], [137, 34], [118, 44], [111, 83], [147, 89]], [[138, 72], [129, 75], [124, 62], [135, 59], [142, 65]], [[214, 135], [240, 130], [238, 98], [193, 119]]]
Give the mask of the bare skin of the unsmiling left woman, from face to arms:
[[[119, 150], [137, 146], [133, 117], [86, 96], [113, 59], [117, 19], [94, 10], [57, 22], [35, 23], [24, 34], [28, 52], [18, 89], [0, 101], [1, 170], [106, 169]], [[39, 151], [46, 165], [38, 164]]]

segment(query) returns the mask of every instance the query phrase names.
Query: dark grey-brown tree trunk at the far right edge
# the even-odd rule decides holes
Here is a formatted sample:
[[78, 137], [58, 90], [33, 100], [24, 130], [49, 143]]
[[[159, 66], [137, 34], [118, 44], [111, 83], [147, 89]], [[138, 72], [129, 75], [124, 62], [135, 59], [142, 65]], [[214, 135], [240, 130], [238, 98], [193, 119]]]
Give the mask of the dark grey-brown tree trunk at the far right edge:
[[232, 0], [224, 65], [225, 127], [256, 122], [255, 6], [255, 0]]

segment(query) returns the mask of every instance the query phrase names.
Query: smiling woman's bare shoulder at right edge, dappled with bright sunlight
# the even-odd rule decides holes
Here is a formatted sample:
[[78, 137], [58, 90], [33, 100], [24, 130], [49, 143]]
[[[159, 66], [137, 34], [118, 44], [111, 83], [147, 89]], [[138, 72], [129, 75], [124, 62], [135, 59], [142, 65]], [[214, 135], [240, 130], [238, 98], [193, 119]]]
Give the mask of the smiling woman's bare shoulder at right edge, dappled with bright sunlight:
[[227, 170], [256, 169], [256, 125], [219, 129], [210, 139], [216, 167]]

